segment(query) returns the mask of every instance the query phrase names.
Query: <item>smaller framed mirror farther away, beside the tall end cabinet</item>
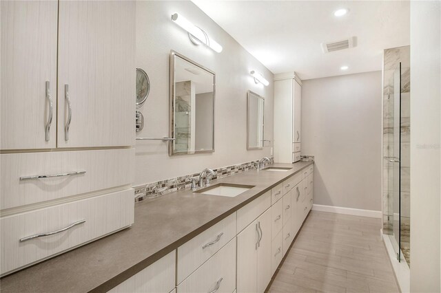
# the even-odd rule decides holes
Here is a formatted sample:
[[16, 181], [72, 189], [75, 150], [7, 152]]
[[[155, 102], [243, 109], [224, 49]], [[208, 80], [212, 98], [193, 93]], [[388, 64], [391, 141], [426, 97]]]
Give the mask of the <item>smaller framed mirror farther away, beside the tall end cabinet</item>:
[[265, 98], [247, 92], [247, 149], [263, 149]]

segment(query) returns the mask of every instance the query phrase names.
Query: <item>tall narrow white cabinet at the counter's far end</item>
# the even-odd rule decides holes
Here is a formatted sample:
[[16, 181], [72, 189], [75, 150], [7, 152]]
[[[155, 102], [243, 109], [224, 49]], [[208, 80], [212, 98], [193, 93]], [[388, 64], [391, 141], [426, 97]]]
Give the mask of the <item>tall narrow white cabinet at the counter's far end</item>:
[[300, 160], [302, 81], [295, 72], [274, 76], [274, 161]]

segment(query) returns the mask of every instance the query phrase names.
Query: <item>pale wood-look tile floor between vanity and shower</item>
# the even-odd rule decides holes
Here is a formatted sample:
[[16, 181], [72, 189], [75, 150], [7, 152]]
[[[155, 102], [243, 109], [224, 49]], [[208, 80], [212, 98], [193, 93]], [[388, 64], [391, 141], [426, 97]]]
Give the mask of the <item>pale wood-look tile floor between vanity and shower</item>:
[[269, 293], [400, 292], [381, 219], [312, 210]]

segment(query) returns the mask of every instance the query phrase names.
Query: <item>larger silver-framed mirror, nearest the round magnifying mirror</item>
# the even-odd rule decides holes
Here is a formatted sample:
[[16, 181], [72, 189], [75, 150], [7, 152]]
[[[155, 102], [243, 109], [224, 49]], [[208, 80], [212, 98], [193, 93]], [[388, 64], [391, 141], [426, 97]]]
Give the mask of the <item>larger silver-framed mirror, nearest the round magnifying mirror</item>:
[[214, 152], [216, 75], [170, 53], [170, 155]]

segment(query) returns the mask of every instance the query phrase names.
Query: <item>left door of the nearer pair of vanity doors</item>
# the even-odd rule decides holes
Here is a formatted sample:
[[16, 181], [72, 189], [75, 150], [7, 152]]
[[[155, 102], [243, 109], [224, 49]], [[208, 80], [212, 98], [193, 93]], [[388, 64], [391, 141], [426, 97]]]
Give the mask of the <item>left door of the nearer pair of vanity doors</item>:
[[238, 293], [257, 292], [257, 242], [258, 223], [255, 220], [237, 235]]

